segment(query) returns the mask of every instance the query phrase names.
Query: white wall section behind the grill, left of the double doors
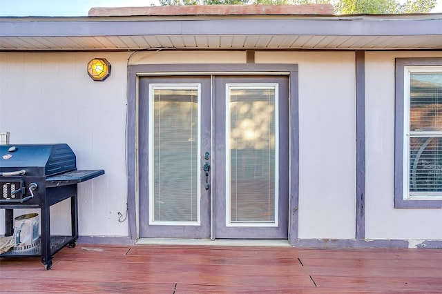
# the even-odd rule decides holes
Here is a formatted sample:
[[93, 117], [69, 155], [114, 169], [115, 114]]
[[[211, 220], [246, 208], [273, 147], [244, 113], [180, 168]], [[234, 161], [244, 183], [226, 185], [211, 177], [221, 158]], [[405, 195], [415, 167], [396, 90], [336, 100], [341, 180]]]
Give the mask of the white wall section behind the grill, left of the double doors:
[[[112, 64], [104, 82], [86, 72], [97, 56]], [[126, 52], [0, 53], [0, 130], [11, 133], [10, 143], [66, 143], [78, 169], [106, 171], [78, 185], [80, 235], [128, 235], [117, 214], [126, 215], [127, 58]], [[52, 233], [70, 233], [69, 211], [68, 201], [51, 207]], [[3, 209], [0, 219], [4, 224]]]

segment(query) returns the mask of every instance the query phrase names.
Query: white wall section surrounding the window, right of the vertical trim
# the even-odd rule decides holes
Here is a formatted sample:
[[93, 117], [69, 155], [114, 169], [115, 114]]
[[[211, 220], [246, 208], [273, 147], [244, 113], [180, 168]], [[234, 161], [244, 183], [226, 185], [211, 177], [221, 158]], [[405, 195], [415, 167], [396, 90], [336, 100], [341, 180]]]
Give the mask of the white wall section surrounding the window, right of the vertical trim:
[[394, 65], [398, 57], [442, 57], [442, 52], [365, 53], [365, 237], [440, 240], [441, 209], [394, 208]]

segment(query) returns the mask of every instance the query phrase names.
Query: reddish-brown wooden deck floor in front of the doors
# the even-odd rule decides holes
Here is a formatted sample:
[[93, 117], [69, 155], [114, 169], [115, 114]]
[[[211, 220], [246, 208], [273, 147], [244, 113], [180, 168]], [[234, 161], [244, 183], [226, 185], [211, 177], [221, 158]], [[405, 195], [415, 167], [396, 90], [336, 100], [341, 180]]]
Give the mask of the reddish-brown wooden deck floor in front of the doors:
[[442, 250], [77, 244], [0, 258], [0, 292], [442, 293]]

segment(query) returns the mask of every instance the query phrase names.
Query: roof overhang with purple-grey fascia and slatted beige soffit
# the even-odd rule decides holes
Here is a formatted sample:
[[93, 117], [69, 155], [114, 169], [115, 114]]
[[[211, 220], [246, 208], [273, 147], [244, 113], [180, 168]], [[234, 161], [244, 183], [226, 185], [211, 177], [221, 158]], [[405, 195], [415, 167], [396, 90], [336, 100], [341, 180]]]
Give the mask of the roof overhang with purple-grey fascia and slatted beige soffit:
[[441, 50], [442, 14], [0, 17], [0, 51]]

